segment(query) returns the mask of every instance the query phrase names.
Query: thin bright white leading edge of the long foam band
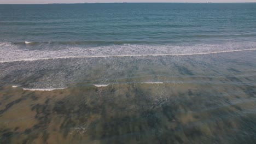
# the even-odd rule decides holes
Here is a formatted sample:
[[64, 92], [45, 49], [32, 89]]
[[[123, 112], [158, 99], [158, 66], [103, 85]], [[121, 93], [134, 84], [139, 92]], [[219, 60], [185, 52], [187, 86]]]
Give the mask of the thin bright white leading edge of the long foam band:
[[11, 61], [0, 61], [0, 63], [22, 62], [22, 61], [39, 61], [39, 60], [50, 60], [50, 59], [65, 59], [65, 58], [194, 56], [194, 55], [211, 55], [211, 54], [217, 54], [217, 53], [253, 51], [253, 50], [256, 50], [256, 48], [254, 48], [254, 49], [243, 49], [243, 50], [216, 51], [216, 52], [201, 52], [201, 53], [181, 53], [181, 54], [142, 54], [142, 55], [106, 55], [106, 56], [67, 56], [67, 57], [49, 57], [49, 58], [25, 58], [25, 59], [11, 60]]

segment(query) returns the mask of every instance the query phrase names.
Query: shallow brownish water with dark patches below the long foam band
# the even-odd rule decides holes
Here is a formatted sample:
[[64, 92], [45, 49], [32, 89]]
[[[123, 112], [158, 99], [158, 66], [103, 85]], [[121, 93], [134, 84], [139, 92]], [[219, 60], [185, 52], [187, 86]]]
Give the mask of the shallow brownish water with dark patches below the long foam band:
[[254, 143], [255, 54], [1, 63], [1, 141]]

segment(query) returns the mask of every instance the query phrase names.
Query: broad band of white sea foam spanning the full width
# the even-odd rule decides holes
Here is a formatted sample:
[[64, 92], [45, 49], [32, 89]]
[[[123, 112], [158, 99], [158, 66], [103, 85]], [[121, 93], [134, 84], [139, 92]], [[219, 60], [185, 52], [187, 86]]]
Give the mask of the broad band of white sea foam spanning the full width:
[[[246, 46], [246, 47], [245, 47]], [[243, 48], [245, 47], [245, 48]], [[210, 55], [226, 52], [256, 50], [256, 43], [238, 44], [198, 44], [192, 46], [172, 45], [112, 45], [92, 48], [68, 47], [61, 50], [27, 50], [18, 45], [0, 43], [0, 63], [38, 61], [67, 58], [107, 58], [107, 57], [159, 57]]]

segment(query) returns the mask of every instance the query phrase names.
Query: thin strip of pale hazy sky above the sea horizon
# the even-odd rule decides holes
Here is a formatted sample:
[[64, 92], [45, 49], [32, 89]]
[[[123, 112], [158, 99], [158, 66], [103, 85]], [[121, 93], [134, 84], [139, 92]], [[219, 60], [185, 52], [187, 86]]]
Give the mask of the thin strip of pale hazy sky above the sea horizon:
[[25, 3], [112, 3], [112, 2], [256, 2], [256, 0], [0, 0], [0, 4]]

